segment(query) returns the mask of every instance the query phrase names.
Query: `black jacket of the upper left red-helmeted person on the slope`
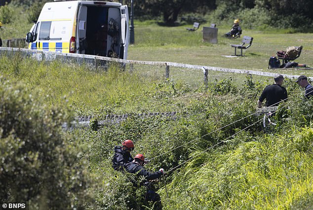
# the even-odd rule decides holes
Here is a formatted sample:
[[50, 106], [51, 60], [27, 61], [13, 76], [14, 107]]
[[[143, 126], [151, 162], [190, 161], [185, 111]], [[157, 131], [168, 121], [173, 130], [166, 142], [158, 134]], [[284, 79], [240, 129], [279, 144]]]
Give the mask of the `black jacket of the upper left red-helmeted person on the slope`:
[[114, 152], [115, 154], [112, 160], [112, 167], [115, 170], [123, 170], [123, 168], [125, 168], [125, 164], [134, 160], [129, 152], [122, 150], [121, 146], [115, 146]]

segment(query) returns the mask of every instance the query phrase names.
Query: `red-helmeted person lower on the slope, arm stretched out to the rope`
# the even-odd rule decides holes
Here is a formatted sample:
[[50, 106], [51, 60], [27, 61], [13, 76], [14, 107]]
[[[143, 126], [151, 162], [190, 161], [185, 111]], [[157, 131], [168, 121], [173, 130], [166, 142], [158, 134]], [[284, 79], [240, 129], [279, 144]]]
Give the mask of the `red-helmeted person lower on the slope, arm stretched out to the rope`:
[[160, 168], [154, 173], [146, 170], [143, 165], [145, 164], [145, 157], [142, 154], [137, 154], [134, 157], [133, 162], [127, 164], [126, 170], [129, 173], [135, 173], [137, 176], [144, 176], [145, 181], [141, 185], [147, 186], [147, 193], [145, 199], [147, 201], [157, 202], [157, 208], [162, 209], [161, 207], [161, 198], [159, 194], [155, 192], [155, 189], [151, 186], [151, 181], [158, 179], [161, 175], [164, 174], [164, 169]]

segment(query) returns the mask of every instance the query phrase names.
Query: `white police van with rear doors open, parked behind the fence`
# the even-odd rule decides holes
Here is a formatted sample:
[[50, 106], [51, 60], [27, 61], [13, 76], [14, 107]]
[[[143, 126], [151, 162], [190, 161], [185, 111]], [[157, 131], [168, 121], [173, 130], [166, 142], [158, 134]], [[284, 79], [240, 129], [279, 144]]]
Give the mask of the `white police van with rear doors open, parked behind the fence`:
[[29, 49], [126, 59], [126, 5], [101, 0], [45, 3], [26, 36]]

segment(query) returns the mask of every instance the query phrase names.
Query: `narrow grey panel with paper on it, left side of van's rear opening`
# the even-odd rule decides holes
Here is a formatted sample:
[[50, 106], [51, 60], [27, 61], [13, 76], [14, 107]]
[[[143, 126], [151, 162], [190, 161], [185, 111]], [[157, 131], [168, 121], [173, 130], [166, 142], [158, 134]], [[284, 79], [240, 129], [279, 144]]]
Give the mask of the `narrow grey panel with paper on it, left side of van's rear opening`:
[[80, 4], [78, 12], [77, 27], [77, 53], [85, 54], [86, 46], [86, 27], [87, 27], [87, 6]]

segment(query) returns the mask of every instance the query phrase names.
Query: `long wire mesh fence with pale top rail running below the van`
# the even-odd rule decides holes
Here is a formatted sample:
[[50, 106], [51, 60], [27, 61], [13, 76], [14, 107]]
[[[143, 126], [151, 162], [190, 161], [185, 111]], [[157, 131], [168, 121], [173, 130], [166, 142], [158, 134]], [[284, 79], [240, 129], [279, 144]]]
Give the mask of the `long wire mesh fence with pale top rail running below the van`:
[[[121, 71], [136, 73], [139, 78], [170, 80], [175, 83], [188, 85], [191, 88], [198, 88], [202, 85], [207, 86], [209, 83], [223, 79], [230, 79], [234, 84], [240, 85], [246, 80], [247, 74], [253, 75], [256, 79], [272, 83], [275, 75], [274, 73], [252, 70], [218, 68], [171, 62], [132, 61], [95, 55], [39, 51], [23, 48], [0, 47], [0, 55], [9, 58], [18, 55], [23, 59], [37, 60], [45, 64], [59, 61], [64, 65], [86, 65], [88, 66], [88, 69], [93, 71], [107, 71], [109, 68], [115, 67]], [[287, 78], [298, 77], [298, 75], [283, 76]]]

